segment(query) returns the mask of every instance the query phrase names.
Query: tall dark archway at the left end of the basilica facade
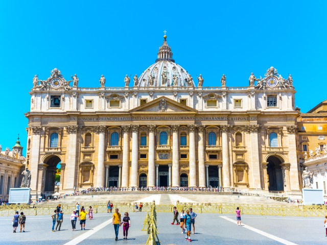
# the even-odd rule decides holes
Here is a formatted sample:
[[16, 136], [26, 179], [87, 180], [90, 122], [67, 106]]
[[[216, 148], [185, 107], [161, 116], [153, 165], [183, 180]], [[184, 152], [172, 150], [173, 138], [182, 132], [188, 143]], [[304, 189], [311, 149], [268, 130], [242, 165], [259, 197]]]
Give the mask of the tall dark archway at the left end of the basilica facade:
[[48, 165], [46, 166], [46, 170], [45, 170], [44, 191], [49, 191], [49, 192], [57, 191], [55, 190], [56, 173], [57, 173], [58, 163], [60, 162], [61, 160], [58, 156], [50, 156], [44, 161], [44, 163]]

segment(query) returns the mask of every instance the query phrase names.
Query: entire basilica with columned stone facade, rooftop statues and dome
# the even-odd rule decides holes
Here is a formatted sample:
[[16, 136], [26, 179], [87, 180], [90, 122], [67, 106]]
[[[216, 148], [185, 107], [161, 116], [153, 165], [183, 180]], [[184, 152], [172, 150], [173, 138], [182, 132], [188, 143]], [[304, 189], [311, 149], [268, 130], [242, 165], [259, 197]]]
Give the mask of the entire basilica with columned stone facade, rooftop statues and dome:
[[[33, 79], [27, 168], [34, 197], [116, 186], [298, 191], [295, 90], [270, 67], [246, 87], [197, 86], [166, 36], [156, 62], [123, 87], [81, 88], [54, 69]], [[132, 81], [130, 81], [132, 80]], [[204, 83], [204, 84], [203, 84]]]

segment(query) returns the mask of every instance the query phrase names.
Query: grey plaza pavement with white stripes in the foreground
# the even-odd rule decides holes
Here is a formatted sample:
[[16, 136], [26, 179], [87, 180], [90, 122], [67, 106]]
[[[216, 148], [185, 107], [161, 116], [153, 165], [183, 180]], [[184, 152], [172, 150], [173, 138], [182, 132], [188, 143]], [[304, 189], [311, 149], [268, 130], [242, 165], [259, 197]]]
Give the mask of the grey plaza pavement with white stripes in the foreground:
[[[179, 210], [180, 211], [180, 210]], [[120, 210], [124, 214], [124, 210]], [[114, 241], [111, 215], [95, 213], [93, 220], [86, 220], [86, 230], [72, 231], [70, 213], [64, 214], [61, 231], [52, 232], [52, 219], [47, 216], [28, 216], [26, 232], [12, 232], [12, 217], [0, 217], [0, 244], [145, 244], [146, 231], [141, 231], [146, 213], [130, 213], [131, 228], [129, 239], [123, 240], [123, 229], [119, 231], [119, 241]], [[177, 225], [171, 225], [172, 213], [157, 213], [158, 237], [161, 244], [189, 244], [185, 234]], [[235, 215], [198, 214], [196, 234], [192, 234], [190, 244], [327, 244], [323, 218], [280, 217], [243, 215], [242, 227], [235, 224]], [[79, 229], [78, 229], [79, 228]]]

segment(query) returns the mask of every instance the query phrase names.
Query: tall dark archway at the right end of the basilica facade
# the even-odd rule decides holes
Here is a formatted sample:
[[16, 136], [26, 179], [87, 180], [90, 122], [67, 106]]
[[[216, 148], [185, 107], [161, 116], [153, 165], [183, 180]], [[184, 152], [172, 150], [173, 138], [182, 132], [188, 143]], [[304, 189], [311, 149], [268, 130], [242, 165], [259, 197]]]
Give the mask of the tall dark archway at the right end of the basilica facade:
[[281, 167], [282, 161], [275, 156], [270, 156], [267, 162], [268, 190], [284, 191], [283, 171]]

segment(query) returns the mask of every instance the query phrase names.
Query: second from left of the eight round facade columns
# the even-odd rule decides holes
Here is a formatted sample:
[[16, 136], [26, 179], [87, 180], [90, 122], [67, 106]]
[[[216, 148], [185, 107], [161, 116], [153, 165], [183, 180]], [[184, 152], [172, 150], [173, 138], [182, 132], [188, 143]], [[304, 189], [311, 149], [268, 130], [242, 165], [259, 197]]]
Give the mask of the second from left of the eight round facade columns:
[[129, 184], [129, 128], [130, 126], [122, 126], [123, 129], [123, 166], [122, 166], [122, 186], [128, 187]]

